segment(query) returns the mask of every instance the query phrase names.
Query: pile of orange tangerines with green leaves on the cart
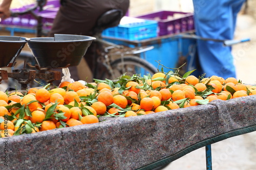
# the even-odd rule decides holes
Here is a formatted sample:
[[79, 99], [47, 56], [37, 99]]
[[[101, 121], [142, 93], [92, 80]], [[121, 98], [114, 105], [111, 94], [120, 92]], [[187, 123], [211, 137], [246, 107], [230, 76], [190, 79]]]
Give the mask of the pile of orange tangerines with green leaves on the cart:
[[1, 137], [98, 123], [99, 116], [137, 116], [256, 94], [235, 78], [157, 72], [115, 81], [62, 82], [50, 89], [0, 91]]

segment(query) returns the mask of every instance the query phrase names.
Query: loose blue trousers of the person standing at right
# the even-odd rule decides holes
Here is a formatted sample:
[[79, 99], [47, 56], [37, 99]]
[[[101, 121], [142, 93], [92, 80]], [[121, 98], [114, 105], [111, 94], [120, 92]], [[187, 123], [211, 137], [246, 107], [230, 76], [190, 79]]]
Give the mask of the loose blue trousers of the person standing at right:
[[[238, 12], [245, 0], [193, 0], [196, 34], [203, 38], [231, 40]], [[198, 40], [198, 57], [205, 77], [236, 78], [230, 46]]]

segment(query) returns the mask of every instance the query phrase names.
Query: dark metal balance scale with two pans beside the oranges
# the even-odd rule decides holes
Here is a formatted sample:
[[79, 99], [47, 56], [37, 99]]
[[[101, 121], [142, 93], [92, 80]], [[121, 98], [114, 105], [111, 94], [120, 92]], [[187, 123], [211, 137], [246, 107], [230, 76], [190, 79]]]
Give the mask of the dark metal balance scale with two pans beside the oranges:
[[55, 34], [54, 37], [26, 38], [17, 36], [0, 36], [0, 68], [13, 67], [15, 60], [26, 43], [38, 65], [34, 69], [13, 69], [12, 72], [0, 69], [2, 80], [13, 78], [21, 84], [22, 89], [35, 79], [52, 83], [61, 79], [61, 72], [54, 68], [77, 66], [86, 54], [88, 47], [96, 38], [82, 35]]

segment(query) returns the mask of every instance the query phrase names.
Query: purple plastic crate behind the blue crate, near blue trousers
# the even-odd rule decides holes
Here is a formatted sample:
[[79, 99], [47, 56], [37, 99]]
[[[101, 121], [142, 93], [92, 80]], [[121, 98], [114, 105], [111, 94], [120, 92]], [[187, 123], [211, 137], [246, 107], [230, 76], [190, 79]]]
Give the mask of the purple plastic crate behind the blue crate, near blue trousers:
[[137, 18], [157, 20], [158, 36], [178, 34], [185, 31], [194, 30], [193, 13], [159, 11], [137, 16]]

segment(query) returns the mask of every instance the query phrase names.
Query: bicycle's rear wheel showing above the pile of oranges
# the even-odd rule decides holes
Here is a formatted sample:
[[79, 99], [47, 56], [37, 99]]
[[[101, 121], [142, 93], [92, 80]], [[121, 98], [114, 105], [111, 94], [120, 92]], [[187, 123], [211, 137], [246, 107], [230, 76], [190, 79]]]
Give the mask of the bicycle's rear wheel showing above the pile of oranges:
[[108, 67], [108, 71], [104, 72], [101, 79], [114, 80], [122, 74], [128, 76], [133, 76], [135, 74], [141, 76], [147, 74], [153, 75], [156, 71], [157, 68], [144, 59], [137, 56], [125, 56], [112, 61], [110, 67]]

